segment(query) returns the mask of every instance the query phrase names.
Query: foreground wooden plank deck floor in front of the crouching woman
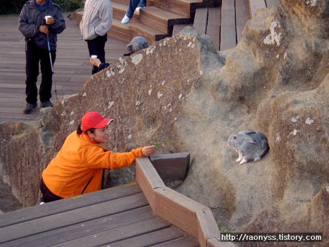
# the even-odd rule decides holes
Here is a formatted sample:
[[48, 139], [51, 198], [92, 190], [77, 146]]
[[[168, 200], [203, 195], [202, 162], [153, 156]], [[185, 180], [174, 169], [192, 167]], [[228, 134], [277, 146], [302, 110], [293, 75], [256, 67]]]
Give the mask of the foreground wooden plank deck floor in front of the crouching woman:
[[161, 219], [137, 183], [0, 215], [0, 246], [199, 246]]

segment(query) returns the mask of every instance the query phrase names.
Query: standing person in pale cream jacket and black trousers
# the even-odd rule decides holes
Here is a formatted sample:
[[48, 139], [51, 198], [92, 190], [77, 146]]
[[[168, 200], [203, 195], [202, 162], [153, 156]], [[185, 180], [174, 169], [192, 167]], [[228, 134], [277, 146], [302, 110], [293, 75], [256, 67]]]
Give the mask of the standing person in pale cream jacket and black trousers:
[[[86, 0], [80, 30], [82, 39], [87, 41], [89, 56], [105, 63], [105, 43], [107, 31], [112, 27], [113, 9], [110, 0]], [[98, 67], [93, 66], [92, 74], [98, 72]]]

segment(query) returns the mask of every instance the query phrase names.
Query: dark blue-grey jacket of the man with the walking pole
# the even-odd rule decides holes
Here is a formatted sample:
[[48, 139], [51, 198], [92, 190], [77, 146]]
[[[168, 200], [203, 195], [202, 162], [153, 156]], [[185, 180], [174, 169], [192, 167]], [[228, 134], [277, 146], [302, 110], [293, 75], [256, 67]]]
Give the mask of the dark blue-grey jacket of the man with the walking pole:
[[43, 11], [40, 11], [35, 0], [26, 2], [19, 18], [19, 30], [25, 36], [25, 40], [33, 38], [37, 46], [48, 49], [47, 34], [40, 32], [39, 26], [45, 25], [46, 15], [51, 15], [55, 23], [49, 25], [49, 45], [51, 50], [56, 50], [57, 34], [61, 33], [66, 26], [60, 7], [51, 0], [47, 1], [48, 6]]

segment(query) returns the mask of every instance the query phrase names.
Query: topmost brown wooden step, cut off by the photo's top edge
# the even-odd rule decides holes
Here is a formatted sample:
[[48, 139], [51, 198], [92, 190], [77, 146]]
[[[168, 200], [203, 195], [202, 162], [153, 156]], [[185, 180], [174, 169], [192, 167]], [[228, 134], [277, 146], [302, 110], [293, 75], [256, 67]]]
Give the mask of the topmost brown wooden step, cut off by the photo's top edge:
[[202, 0], [154, 0], [154, 6], [194, 18], [196, 8], [205, 7]]

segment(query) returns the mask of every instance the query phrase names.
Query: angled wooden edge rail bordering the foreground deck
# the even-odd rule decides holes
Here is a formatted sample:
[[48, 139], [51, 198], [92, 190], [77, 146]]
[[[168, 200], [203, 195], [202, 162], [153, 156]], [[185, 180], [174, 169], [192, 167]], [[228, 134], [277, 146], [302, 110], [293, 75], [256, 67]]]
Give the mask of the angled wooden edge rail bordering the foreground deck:
[[211, 210], [167, 187], [150, 158], [136, 159], [136, 181], [155, 215], [176, 225], [199, 240], [201, 247], [232, 247], [221, 242], [221, 233]]

